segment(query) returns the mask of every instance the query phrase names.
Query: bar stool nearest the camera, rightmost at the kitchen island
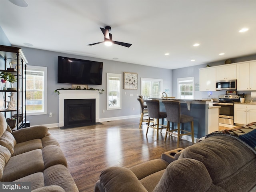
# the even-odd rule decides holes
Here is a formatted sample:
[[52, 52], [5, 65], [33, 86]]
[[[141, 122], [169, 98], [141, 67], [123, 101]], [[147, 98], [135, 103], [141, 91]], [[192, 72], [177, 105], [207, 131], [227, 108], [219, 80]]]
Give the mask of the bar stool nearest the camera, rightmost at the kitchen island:
[[[162, 101], [165, 106], [167, 114], [167, 129], [164, 141], [166, 141], [167, 134], [178, 136], [177, 147], [179, 147], [180, 137], [183, 135], [191, 135], [192, 143], [194, 143], [194, 118], [192, 116], [180, 114], [179, 101]], [[172, 130], [170, 130], [170, 122], [172, 122]], [[180, 124], [190, 122], [191, 132], [180, 129]], [[174, 129], [174, 123], [178, 123], [178, 128]], [[175, 133], [177, 131], [178, 133]], [[184, 133], [182, 133], [184, 132]]]

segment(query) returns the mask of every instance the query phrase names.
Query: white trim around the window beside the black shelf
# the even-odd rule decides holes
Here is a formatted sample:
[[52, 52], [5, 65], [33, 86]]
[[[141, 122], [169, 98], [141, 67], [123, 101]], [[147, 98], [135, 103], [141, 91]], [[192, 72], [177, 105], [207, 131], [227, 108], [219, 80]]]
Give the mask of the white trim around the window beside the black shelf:
[[[47, 67], [42, 66], [26, 66], [26, 70], [38, 70], [44, 72], [44, 86], [43, 86], [43, 98], [44, 98], [44, 111], [43, 112], [28, 112], [26, 111], [26, 116], [30, 115], [45, 115], [47, 114]], [[25, 98], [26, 100], [26, 98]]]

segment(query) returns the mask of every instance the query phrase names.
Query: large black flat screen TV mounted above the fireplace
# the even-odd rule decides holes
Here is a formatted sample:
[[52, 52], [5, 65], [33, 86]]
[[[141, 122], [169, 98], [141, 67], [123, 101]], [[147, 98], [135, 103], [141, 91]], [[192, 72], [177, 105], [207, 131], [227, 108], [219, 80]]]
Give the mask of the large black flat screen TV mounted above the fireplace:
[[58, 83], [101, 85], [103, 62], [58, 56]]

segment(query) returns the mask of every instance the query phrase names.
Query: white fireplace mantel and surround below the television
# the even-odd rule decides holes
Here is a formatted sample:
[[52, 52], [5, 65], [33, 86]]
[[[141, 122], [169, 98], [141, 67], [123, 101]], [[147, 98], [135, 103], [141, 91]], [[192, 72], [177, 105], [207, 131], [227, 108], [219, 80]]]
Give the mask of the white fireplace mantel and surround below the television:
[[65, 99], [95, 99], [95, 122], [100, 122], [100, 93], [90, 90], [58, 90], [59, 94], [59, 126], [64, 126], [64, 100]]

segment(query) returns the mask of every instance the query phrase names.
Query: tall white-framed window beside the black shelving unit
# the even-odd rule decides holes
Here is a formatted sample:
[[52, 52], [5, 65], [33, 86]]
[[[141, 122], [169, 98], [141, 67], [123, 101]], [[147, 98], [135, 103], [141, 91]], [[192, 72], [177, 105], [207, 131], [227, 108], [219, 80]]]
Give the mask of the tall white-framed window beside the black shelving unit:
[[26, 115], [47, 113], [47, 68], [41, 66], [26, 67]]

